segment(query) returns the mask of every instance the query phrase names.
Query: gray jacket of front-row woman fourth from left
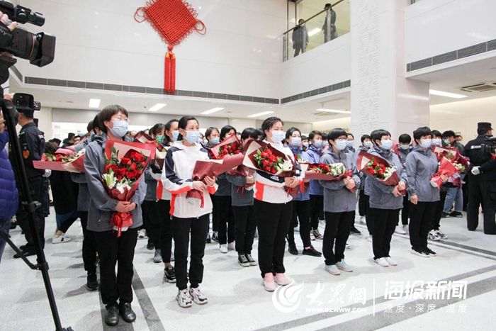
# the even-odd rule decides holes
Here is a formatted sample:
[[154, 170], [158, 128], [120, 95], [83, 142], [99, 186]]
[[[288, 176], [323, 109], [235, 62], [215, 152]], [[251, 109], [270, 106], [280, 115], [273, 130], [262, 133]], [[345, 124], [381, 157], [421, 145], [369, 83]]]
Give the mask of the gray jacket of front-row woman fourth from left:
[[[349, 150], [342, 150], [339, 153], [334, 152], [329, 148], [322, 155], [320, 162], [324, 164], [342, 163], [346, 170], [353, 170], [353, 179], [356, 187], [360, 186], [360, 177], [356, 171], [354, 155]], [[345, 211], [354, 211], [356, 208], [357, 196], [356, 192], [351, 193], [344, 186], [344, 181], [320, 181], [320, 185], [324, 187], [324, 211], [329, 213], [342, 213]]]

